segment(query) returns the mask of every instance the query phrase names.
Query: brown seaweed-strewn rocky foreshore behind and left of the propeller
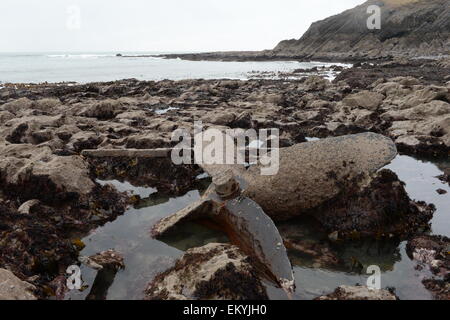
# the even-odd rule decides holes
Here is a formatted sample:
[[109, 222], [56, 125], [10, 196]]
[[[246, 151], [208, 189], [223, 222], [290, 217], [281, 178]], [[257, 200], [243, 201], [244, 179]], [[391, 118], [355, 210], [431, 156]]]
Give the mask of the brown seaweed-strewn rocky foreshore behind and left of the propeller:
[[[175, 144], [172, 132], [191, 129], [194, 120], [206, 127], [279, 128], [281, 147], [302, 143], [306, 137], [371, 131], [390, 137], [403, 153], [448, 158], [449, 74], [448, 60], [395, 60], [356, 64], [332, 82], [310, 75], [295, 80], [8, 84], [0, 88], [0, 268], [31, 283], [40, 298], [64, 292], [66, 268], [77, 261], [83, 247], [78, 239], [114, 220], [136, 200], [96, 179], [133, 181], [177, 195], [192, 188], [202, 172], [160, 159], [89, 160], [81, 151], [170, 148]], [[329, 203], [318, 220], [330, 232], [344, 226], [342, 234], [355, 236], [354, 225], [345, 224], [345, 203], [351, 200], [374, 214], [370, 219], [375, 220], [362, 219], [366, 230], [373, 221], [390, 225], [382, 218], [381, 204], [372, 207], [373, 202], [361, 201], [382, 198], [384, 189], [386, 194], [396, 190], [386, 207], [398, 205], [411, 214], [402, 236], [420, 233], [432, 207], [416, 203], [411, 209], [401, 182], [389, 172], [380, 173], [356, 195]], [[329, 219], [330, 206], [343, 210], [336, 220]], [[420, 206], [427, 208], [423, 217], [417, 211]], [[378, 233], [372, 231], [370, 236]], [[246, 257], [234, 257], [234, 248], [222, 249], [237, 259], [233, 263], [246, 261], [245, 270], [226, 272], [239, 278], [253, 272]], [[158, 279], [164, 281], [163, 276]], [[151, 296], [165, 297], [167, 292], [158, 286], [152, 284]], [[200, 297], [212, 294], [205, 290]], [[440, 290], [448, 294], [448, 288]], [[264, 297], [260, 284], [254, 296]]]

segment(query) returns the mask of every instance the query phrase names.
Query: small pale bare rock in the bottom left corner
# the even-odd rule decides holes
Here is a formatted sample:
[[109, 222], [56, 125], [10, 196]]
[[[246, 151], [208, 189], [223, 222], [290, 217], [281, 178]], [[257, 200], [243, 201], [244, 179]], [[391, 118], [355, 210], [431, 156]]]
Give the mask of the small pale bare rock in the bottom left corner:
[[0, 269], [0, 300], [37, 300], [36, 288], [17, 278], [11, 271]]

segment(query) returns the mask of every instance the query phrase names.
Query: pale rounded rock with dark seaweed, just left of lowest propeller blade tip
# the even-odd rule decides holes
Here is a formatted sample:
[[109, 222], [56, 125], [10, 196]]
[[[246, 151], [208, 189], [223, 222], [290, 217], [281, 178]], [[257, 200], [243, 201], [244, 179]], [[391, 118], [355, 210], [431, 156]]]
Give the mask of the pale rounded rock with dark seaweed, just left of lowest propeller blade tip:
[[[239, 283], [238, 286], [236, 284]], [[188, 250], [146, 290], [149, 300], [266, 300], [252, 260], [228, 244]]]

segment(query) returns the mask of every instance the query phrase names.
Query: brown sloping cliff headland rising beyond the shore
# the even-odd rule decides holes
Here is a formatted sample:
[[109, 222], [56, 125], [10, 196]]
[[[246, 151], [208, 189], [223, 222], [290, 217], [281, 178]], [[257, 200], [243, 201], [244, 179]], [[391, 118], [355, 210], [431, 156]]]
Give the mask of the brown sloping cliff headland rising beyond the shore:
[[[369, 5], [381, 7], [381, 29], [369, 30]], [[450, 0], [369, 0], [315, 22], [299, 40], [280, 42], [274, 56], [367, 59], [450, 54]]]

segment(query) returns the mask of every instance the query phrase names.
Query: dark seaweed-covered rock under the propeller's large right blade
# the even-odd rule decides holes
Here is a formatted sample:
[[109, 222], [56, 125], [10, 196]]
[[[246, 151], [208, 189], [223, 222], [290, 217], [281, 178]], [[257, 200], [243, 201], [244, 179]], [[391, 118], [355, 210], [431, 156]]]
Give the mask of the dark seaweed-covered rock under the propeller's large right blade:
[[350, 181], [343, 192], [310, 211], [328, 232], [346, 237], [407, 236], [428, 228], [435, 208], [412, 201], [397, 175], [384, 169], [357, 187]]

